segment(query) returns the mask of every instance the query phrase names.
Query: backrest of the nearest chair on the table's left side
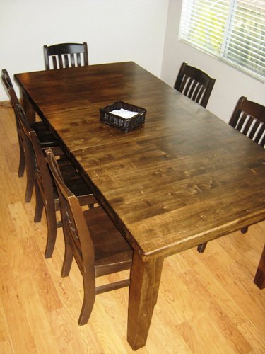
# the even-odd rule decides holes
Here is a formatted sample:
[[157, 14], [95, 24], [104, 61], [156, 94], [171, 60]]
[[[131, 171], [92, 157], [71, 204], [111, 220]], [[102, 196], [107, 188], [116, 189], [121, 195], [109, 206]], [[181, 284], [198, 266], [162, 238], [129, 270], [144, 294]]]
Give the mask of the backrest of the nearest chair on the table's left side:
[[78, 263], [81, 273], [86, 268], [90, 274], [91, 287], [95, 287], [95, 253], [93, 241], [86, 224], [86, 219], [75, 195], [66, 187], [61, 176], [59, 166], [52, 149], [45, 150], [49, 169], [52, 172], [54, 182], [61, 204], [61, 219], [63, 221], [64, 236], [67, 237], [73, 256]]

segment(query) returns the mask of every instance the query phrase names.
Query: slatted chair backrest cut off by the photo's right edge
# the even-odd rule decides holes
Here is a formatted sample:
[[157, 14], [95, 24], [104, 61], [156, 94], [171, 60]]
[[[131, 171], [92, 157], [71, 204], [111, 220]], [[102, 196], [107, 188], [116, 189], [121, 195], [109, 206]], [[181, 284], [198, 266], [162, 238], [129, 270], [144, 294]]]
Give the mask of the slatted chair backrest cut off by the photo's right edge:
[[242, 134], [265, 147], [265, 107], [240, 97], [229, 124]]

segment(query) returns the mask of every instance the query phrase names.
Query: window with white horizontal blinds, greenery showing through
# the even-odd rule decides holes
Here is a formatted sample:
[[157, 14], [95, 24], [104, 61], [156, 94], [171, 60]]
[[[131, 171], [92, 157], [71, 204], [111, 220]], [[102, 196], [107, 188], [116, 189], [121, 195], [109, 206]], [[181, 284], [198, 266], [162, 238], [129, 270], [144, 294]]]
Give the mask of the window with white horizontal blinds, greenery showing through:
[[265, 80], [264, 0], [183, 0], [179, 38]]

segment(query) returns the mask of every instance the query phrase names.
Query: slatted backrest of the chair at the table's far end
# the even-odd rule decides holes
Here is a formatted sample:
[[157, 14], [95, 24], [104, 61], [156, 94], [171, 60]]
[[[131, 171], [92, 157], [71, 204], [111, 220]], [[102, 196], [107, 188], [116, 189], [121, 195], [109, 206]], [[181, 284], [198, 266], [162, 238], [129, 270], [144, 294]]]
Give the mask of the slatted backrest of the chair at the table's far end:
[[43, 50], [46, 70], [88, 65], [88, 45], [86, 42], [45, 45]]

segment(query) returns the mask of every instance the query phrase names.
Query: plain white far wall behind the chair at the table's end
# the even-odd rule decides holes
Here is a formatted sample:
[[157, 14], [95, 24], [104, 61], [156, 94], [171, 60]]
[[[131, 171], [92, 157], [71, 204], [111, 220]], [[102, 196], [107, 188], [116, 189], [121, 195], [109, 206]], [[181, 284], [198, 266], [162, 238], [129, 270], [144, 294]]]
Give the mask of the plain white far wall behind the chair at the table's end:
[[[168, 0], [0, 0], [0, 69], [44, 69], [43, 45], [88, 42], [90, 64], [132, 60], [160, 76]], [[16, 85], [14, 85], [16, 86]], [[0, 85], [0, 101], [7, 100]]]

